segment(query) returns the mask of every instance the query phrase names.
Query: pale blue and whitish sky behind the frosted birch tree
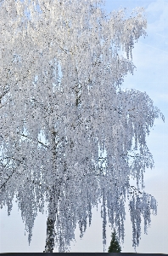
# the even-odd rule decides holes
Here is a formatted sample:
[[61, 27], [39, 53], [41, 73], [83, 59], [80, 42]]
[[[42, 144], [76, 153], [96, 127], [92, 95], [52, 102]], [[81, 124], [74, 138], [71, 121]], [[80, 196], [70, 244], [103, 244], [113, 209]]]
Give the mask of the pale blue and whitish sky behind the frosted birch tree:
[[[137, 70], [127, 75], [123, 88], [146, 91], [165, 115], [155, 122], [154, 130], [148, 137], [148, 148], [154, 156], [154, 169], [144, 176], [145, 191], [158, 201], [158, 214], [152, 217], [148, 235], [143, 234], [137, 253], [168, 253], [168, 0], [107, 0], [104, 7], [109, 12], [120, 7], [134, 9], [143, 6], [148, 20], [148, 37], [140, 38], [132, 50]], [[33, 230], [31, 245], [28, 245], [25, 224], [14, 204], [10, 217], [7, 208], [0, 210], [0, 253], [42, 252], [46, 240], [47, 215], [39, 213]], [[25, 236], [24, 236], [25, 234]], [[132, 224], [129, 212], [126, 214], [125, 242], [122, 252], [134, 252], [132, 247]], [[103, 252], [102, 219], [100, 207], [93, 210], [92, 225], [87, 227], [84, 237], [76, 230], [76, 242], [70, 252]], [[111, 230], [107, 227], [107, 247]], [[55, 248], [54, 252], [58, 252]]]

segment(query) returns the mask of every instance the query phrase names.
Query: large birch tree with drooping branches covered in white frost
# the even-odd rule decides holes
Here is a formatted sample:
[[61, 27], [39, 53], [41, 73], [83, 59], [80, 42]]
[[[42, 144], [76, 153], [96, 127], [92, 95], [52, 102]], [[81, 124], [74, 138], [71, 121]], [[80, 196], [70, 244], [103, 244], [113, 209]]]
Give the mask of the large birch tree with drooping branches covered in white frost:
[[[132, 48], [145, 36], [143, 9], [107, 15], [99, 0], [4, 0], [0, 4], [0, 204], [17, 197], [31, 241], [48, 202], [45, 252], [70, 247], [102, 201], [124, 239], [126, 196], [133, 246], [156, 201], [144, 188], [153, 166], [146, 137], [160, 116], [146, 93], [122, 90]], [[162, 116], [162, 115], [161, 115]], [[130, 183], [137, 179], [137, 187]]]

